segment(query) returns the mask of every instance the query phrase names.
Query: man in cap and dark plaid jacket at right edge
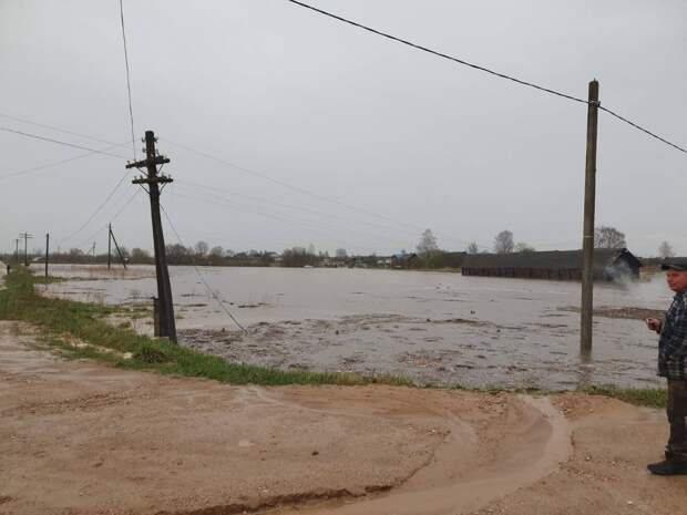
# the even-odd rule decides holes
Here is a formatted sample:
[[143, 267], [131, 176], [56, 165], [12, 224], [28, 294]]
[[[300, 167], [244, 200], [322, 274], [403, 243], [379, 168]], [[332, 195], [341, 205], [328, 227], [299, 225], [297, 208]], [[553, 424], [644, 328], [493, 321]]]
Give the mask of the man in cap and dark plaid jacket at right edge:
[[687, 474], [687, 259], [673, 259], [660, 265], [666, 270], [668, 287], [675, 291], [665, 320], [649, 318], [647, 327], [660, 334], [658, 375], [668, 380], [668, 422], [670, 437], [666, 459], [647, 466], [657, 475]]

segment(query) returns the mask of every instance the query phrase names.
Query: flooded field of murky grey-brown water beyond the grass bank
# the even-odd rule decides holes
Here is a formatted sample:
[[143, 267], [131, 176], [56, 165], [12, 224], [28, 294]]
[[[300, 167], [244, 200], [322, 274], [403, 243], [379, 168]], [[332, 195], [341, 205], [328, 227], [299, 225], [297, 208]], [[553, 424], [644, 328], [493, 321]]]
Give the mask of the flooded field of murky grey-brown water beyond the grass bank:
[[[317, 371], [403, 374], [421, 383], [574, 389], [653, 387], [665, 310], [662, 276], [596, 285], [594, 350], [578, 352], [580, 284], [362, 269], [171, 267], [181, 343], [233, 361]], [[49, 295], [151, 305], [153, 267], [107, 272], [55, 266]], [[216, 298], [244, 325], [238, 331]], [[132, 321], [151, 331], [151, 320]]]

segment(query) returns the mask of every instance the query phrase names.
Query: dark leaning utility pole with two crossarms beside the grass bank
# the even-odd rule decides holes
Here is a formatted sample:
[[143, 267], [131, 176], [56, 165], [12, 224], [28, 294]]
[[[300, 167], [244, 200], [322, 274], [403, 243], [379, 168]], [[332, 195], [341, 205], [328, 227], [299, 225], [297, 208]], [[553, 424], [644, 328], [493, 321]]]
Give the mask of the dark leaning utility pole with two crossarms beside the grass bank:
[[160, 299], [160, 334], [167, 337], [176, 343], [176, 326], [174, 321], [174, 305], [172, 303], [172, 286], [170, 285], [170, 271], [167, 270], [167, 256], [165, 255], [165, 239], [162, 233], [162, 219], [160, 217], [160, 184], [172, 183], [172, 177], [157, 175], [157, 165], [170, 163], [167, 157], [157, 155], [155, 151], [155, 134], [153, 131], [145, 132], [144, 161], [129, 163], [126, 168], [147, 168], [147, 175], [135, 178], [133, 184], [147, 184], [151, 198], [151, 218], [153, 222], [153, 244], [155, 248], [155, 271], [157, 275], [157, 298]]

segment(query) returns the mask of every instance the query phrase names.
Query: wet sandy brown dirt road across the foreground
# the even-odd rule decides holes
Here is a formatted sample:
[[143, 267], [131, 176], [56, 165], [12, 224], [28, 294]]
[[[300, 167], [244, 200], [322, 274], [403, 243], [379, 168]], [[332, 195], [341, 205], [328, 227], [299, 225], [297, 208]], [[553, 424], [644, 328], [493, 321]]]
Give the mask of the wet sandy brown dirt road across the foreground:
[[602, 398], [258, 388], [68, 361], [0, 322], [1, 514], [685, 513], [664, 415]]

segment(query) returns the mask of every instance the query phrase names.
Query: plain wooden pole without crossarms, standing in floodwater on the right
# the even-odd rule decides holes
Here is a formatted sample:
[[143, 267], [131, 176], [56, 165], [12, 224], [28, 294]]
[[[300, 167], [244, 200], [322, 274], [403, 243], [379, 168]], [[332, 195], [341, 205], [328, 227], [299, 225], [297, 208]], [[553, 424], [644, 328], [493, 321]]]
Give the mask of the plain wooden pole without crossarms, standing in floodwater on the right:
[[584, 176], [584, 227], [582, 233], [582, 306], [580, 350], [592, 352], [594, 312], [594, 208], [596, 205], [596, 134], [598, 116], [598, 82], [589, 82], [587, 105], [587, 155]]

